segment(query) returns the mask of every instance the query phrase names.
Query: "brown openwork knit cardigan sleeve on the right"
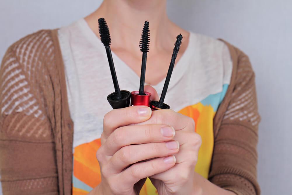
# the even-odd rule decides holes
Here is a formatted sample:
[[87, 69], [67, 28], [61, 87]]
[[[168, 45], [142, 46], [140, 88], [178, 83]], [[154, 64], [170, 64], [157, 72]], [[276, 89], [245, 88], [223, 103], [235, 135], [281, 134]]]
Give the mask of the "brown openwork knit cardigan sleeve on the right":
[[255, 75], [248, 57], [235, 50], [234, 84], [227, 94], [230, 100], [221, 105], [225, 112], [218, 113], [222, 118], [215, 135], [209, 180], [238, 195], [259, 195], [256, 146], [260, 116]]

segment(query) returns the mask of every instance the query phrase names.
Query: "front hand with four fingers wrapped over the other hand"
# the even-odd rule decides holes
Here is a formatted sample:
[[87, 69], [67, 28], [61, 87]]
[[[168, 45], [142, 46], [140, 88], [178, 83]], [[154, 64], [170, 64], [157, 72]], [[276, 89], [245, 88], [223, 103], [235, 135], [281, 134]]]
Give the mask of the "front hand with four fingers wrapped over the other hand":
[[[127, 126], [148, 120], [151, 113], [149, 107], [131, 106], [105, 115], [101, 146], [96, 154], [102, 182], [96, 194], [139, 194], [146, 177], [175, 165], [172, 155], [178, 152], [179, 145], [171, 141], [175, 134], [172, 127]], [[144, 161], [147, 159], [151, 160]]]

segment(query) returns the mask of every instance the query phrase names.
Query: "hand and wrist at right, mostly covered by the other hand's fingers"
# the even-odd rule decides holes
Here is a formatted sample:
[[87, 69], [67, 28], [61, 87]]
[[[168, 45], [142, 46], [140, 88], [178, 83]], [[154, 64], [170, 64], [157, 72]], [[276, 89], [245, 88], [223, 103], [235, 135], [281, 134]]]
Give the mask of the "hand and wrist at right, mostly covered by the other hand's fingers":
[[153, 111], [149, 120], [134, 126], [147, 124], [164, 124], [174, 127], [175, 136], [173, 140], [180, 144], [179, 152], [174, 155], [176, 164], [162, 173], [150, 176], [158, 194], [192, 194], [194, 168], [201, 146], [201, 137], [194, 131], [194, 120], [170, 109], [165, 109]]

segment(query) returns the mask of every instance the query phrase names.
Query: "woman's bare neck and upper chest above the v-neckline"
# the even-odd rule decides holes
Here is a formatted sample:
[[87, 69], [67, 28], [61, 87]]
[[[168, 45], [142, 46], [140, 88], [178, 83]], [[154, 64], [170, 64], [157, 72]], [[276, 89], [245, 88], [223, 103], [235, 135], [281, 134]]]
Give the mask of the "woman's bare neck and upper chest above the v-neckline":
[[157, 84], [166, 76], [175, 38], [183, 34], [184, 41], [177, 60], [188, 45], [189, 32], [172, 23], [166, 14], [166, 0], [105, 0], [85, 18], [99, 37], [98, 18], [105, 18], [112, 39], [111, 49], [138, 76], [141, 72], [139, 41], [144, 22], [149, 21], [150, 50], [147, 54], [145, 81]]

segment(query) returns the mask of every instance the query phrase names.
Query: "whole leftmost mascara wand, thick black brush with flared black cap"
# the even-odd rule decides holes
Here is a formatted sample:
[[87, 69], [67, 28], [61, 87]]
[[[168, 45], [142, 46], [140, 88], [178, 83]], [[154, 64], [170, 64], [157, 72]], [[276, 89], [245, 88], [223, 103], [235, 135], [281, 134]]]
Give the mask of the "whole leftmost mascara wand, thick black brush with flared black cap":
[[110, 72], [112, 74], [112, 82], [114, 83], [115, 92], [107, 96], [107, 100], [112, 108], [125, 108], [129, 106], [131, 93], [128, 91], [121, 91], [119, 88], [119, 83], [116, 75], [116, 70], [114, 68], [114, 61], [112, 59], [112, 51], [110, 49], [111, 38], [109, 34], [109, 28], [104, 18], [98, 19], [99, 35], [102, 44], [105, 46], [105, 51], [107, 52], [107, 60], [109, 62]]

